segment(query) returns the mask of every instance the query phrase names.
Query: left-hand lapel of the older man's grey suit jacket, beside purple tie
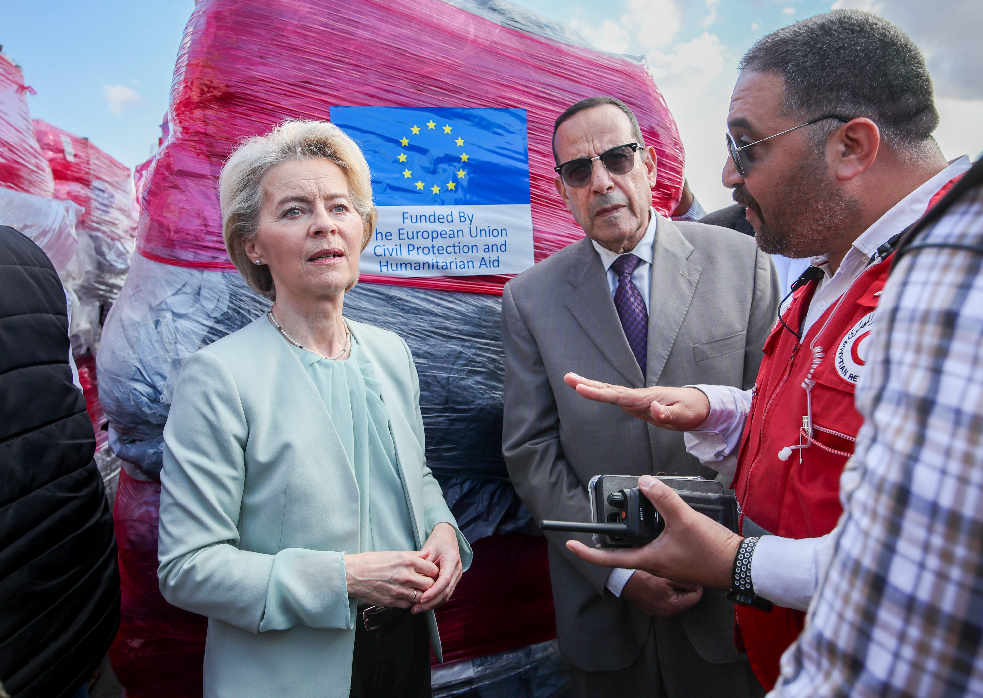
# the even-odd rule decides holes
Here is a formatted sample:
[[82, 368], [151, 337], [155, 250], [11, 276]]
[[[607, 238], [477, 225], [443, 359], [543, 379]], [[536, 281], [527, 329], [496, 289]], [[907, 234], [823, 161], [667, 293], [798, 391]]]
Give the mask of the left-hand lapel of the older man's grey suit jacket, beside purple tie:
[[[567, 278], [573, 292], [567, 298], [566, 307], [626, 383], [631, 387], [643, 387], [645, 379], [621, 329], [601, 258], [589, 238], [574, 245], [578, 247]], [[649, 326], [651, 328], [651, 321]], [[649, 341], [651, 343], [651, 339]]]

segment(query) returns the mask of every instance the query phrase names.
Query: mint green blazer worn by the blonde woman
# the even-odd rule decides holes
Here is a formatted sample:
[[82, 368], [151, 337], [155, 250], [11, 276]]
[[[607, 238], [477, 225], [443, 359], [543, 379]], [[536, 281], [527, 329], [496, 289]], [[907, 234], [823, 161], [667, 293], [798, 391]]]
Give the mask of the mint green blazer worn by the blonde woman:
[[[419, 549], [443, 495], [413, 357], [393, 332], [347, 321], [382, 385]], [[343, 553], [359, 553], [358, 486], [317, 387], [265, 316], [185, 362], [160, 480], [157, 577], [169, 603], [208, 617], [205, 698], [346, 698], [356, 602]]]

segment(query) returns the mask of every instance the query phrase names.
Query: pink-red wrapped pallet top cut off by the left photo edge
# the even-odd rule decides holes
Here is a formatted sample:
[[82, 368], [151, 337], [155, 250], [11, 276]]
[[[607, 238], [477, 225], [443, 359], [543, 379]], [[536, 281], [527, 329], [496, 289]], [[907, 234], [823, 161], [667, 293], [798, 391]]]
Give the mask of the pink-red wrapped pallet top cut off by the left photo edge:
[[24, 74], [0, 53], [0, 187], [51, 199], [51, 168], [34, 140]]

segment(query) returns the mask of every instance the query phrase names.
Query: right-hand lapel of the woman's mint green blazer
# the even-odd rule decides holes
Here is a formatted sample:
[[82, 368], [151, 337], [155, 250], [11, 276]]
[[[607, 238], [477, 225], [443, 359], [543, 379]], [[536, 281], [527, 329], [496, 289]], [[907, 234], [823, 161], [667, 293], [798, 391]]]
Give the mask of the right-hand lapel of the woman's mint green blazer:
[[[367, 333], [361, 331], [365, 325], [361, 322], [354, 322], [345, 319], [348, 327], [355, 337], [359, 346], [369, 356], [373, 365], [373, 375], [379, 382], [382, 390], [382, 402], [385, 404], [386, 412], [389, 415], [389, 430], [392, 434], [392, 442], [396, 449], [396, 467], [399, 469], [399, 478], [403, 481], [403, 491], [406, 494], [407, 503], [410, 506], [410, 515], [413, 516], [415, 523], [414, 533], [417, 537], [417, 547], [424, 544], [425, 521], [424, 521], [424, 491], [423, 473], [420, 469], [409, 469], [409, 464], [425, 462], [423, 450], [424, 444], [417, 438], [413, 425], [409, 423], [407, 415], [402, 407], [400, 391], [393, 383], [392, 372], [398, 371], [397, 367], [392, 367], [392, 362], [385, 355], [381, 347], [376, 346], [376, 342], [371, 341]], [[400, 351], [402, 355], [403, 352]], [[407, 357], [409, 360], [409, 357]], [[407, 369], [407, 379], [409, 372]], [[415, 407], [415, 405], [414, 405]]]

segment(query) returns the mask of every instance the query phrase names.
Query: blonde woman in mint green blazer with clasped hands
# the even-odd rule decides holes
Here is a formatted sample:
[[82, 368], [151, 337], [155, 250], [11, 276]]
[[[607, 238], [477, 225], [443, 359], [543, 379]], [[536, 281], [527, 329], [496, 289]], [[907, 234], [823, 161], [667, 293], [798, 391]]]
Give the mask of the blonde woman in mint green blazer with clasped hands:
[[427, 468], [406, 343], [342, 316], [375, 227], [362, 151], [288, 121], [222, 170], [269, 313], [189, 357], [164, 429], [160, 589], [208, 617], [204, 695], [429, 696], [471, 562]]

